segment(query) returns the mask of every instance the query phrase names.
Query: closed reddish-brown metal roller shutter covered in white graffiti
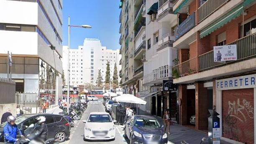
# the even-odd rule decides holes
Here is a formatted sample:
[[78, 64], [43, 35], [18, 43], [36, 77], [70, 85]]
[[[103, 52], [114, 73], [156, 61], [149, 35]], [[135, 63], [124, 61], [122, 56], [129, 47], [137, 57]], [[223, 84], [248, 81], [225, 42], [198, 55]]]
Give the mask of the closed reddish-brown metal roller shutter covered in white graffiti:
[[224, 90], [223, 137], [254, 144], [253, 88]]

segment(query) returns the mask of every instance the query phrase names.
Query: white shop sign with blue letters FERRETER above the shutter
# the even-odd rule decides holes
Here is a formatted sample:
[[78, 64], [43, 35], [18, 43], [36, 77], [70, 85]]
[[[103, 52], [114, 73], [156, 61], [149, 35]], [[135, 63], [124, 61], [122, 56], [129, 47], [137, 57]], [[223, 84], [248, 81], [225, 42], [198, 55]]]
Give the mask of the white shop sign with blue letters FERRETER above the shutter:
[[220, 91], [239, 88], [254, 88], [256, 87], [255, 82], [256, 74], [220, 79], [216, 80], [216, 89]]

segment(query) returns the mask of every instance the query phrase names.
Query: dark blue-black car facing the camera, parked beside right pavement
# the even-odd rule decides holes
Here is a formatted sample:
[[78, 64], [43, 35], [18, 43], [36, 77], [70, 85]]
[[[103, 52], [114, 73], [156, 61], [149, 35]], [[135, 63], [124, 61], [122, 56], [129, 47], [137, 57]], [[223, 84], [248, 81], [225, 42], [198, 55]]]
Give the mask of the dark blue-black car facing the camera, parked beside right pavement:
[[167, 144], [167, 134], [153, 116], [131, 116], [125, 124], [124, 135], [130, 144]]

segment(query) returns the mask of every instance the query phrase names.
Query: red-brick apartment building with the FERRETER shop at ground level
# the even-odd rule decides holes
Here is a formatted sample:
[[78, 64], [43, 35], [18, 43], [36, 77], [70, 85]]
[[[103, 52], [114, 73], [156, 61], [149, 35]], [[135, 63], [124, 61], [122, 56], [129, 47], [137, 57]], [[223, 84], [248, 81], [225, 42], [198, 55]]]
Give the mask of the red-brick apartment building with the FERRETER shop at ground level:
[[180, 123], [195, 115], [195, 129], [207, 130], [215, 109], [221, 139], [255, 144], [256, 1], [175, 0], [173, 11]]

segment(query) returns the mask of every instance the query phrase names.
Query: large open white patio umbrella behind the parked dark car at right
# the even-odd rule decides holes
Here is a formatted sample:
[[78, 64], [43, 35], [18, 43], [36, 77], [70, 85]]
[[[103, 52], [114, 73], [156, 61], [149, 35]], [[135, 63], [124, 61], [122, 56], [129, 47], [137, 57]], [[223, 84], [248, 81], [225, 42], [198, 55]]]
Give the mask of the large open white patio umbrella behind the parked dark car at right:
[[146, 101], [133, 96], [132, 94], [122, 94], [121, 96], [114, 97], [113, 100], [124, 103], [132, 103], [132, 104], [146, 104]]

